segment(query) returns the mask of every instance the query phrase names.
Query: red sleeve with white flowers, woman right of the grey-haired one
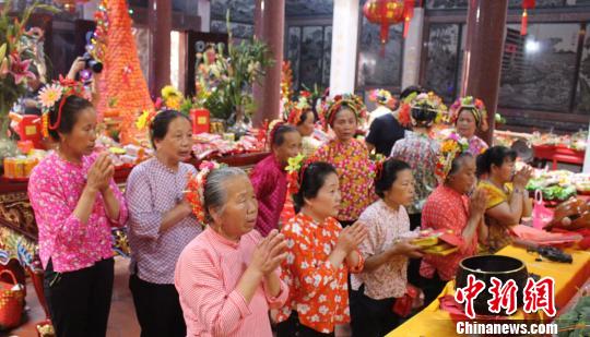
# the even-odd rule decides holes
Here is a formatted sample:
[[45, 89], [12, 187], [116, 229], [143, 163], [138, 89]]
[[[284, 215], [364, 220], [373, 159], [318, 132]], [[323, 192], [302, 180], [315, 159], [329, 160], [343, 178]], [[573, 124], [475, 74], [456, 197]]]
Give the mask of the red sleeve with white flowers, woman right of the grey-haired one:
[[[292, 224], [300, 226], [299, 224]], [[293, 282], [298, 280], [302, 292], [310, 298], [322, 293], [324, 289], [334, 280], [335, 268], [329, 260], [314, 263], [314, 252], [306, 244], [304, 238], [293, 231], [293, 227], [287, 225], [282, 231], [287, 243], [287, 256], [285, 267], [291, 270]]]

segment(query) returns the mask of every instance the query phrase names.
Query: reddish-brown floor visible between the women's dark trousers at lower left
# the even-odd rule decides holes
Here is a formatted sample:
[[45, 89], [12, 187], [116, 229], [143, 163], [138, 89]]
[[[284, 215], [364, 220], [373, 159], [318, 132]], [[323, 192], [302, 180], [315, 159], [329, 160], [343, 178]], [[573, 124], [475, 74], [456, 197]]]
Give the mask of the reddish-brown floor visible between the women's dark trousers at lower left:
[[[108, 320], [107, 337], [134, 337], [140, 335], [140, 327], [133, 308], [133, 299], [131, 298], [131, 292], [128, 287], [128, 265], [129, 260], [115, 257], [115, 286], [113, 290], [113, 303]], [[26, 322], [9, 334], [0, 332], [0, 336], [37, 337], [35, 325], [45, 320], [45, 313], [31, 282], [27, 284], [26, 291]], [[350, 335], [351, 333], [347, 325], [337, 327], [337, 336], [347, 337]]]

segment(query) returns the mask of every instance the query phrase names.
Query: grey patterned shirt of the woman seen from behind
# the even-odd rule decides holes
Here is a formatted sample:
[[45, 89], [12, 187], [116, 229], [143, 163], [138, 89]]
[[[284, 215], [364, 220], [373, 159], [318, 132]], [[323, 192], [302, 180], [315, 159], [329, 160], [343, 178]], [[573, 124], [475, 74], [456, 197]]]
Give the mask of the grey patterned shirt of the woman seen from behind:
[[430, 193], [437, 186], [435, 171], [438, 163], [439, 144], [427, 135], [405, 132], [405, 137], [399, 140], [391, 149], [391, 157], [403, 160], [412, 168], [416, 182], [416, 196], [408, 213], [422, 213], [422, 207]]

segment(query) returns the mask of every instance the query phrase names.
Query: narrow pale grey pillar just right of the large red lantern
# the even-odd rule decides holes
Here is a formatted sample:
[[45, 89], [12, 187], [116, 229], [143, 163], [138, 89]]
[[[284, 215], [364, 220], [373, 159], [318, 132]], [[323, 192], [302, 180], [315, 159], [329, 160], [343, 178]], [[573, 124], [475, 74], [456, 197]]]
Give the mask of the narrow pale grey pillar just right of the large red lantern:
[[424, 28], [424, 9], [416, 8], [410, 22], [410, 29], [403, 47], [402, 85], [403, 91], [420, 81], [420, 60], [422, 52], [422, 34]]

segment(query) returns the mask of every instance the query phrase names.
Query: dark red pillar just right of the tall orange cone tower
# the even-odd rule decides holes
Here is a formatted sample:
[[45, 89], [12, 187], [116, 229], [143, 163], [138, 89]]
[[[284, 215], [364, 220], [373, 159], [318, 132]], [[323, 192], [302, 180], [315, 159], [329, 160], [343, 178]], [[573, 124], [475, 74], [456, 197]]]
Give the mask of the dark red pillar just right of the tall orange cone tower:
[[170, 83], [172, 1], [150, 0], [148, 5], [150, 27], [150, 94], [160, 96], [163, 86]]

